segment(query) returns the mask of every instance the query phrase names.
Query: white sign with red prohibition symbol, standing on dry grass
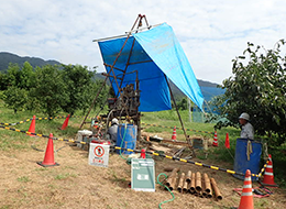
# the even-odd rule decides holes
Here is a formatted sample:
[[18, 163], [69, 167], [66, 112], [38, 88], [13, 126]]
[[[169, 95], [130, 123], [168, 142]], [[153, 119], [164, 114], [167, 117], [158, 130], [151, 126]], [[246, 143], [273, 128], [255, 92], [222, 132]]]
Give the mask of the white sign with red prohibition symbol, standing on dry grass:
[[89, 155], [88, 155], [89, 165], [108, 167], [109, 146], [110, 145], [106, 145], [106, 144], [90, 143]]

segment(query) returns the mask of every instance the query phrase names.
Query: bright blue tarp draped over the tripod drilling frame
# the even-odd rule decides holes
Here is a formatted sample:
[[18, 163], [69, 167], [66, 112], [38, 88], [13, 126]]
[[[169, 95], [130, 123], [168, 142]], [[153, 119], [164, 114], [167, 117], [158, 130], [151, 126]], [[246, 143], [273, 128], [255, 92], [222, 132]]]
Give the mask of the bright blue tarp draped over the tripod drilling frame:
[[[107, 73], [111, 70], [125, 40], [127, 37], [122, 37], [98, 43]], [[135, 86], [138, 73], [141, 90], [139, 111], [172, 109], [166, 77], [202, 109], [204, 97], [198, 81], [173, 29], [166, 23], [145, 32], [133, 33], [128, 38], [113, 66], [117, 78], [122, 78], [125, 69], [121, 88], [129, 84]], [[113, 76], [112, 73], [110, 75]], [[118, 94], [116, 80], [112, 77], [109, 79]]]

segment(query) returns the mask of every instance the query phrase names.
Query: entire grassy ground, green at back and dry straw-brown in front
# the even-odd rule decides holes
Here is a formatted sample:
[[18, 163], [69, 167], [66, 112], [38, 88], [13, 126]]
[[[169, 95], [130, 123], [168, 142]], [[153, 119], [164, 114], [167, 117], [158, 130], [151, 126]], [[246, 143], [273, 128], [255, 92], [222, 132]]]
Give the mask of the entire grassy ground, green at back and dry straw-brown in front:
[[[13, 114], [12, 110], [0, 109], [1, 123], [16, 123], [45, 116], [35, 112], [19, 112]], [[66, 114], [61, 114], [66, 116]], [[80, 113], [76, 114], [80, 116]], [[90, 114], [92, 116], [92, 113]], [[182, 112], [187, 134], [194, 136], [204, 136], [213, 139], [213, 124], [188, 122], [187, 112]], [[55, 138], [75, 139], [84, 117], [70, 118], [68, 129], [59, 130], [64, 118], [53, 120], [36, 120], [35, 132], [44, 135], [53, 133]], [[173, 128], [177, 127], [177, 139], [184, 141], [180, 123], [175, 111], [163, 112], [143, 112], [142, 125], [144, 132], [151, 135], [158, 135], [164, 139], [170, 139]], [[11, 128], [28, 131], [31, 121], [23, 122]], [[145, 125], [155, 124], [156, 127]], [[11, 130], [0, 130], [0, 162], [1, 187], [0, 208], [157, 208], [157, 205], [168, 199], [165, 190], [156, 186], [156, 195], [142, 193], [132, 193], [128, 188], [130, 180], [130, 167], [119, 155], [110, 155], [110, 165], [108, 169], [89, 166], [87, 164], [87, 152], [70, 146], [66, 142], [54, 142], [55, 161], [61, 164], [58, 167], [44, 168], [36, 165], [36, 161], [42, 161], [46, 147], [46, 138], [32, 138], [24, 133]], [[167, 128], [164, 128], [167, 127]], [[86, 124], [84, 129], [89, 129]], [[224, 147], [226, 134], [229, 133], [230, 150]], [[240, 130], [227, 128], [218, 131], [219, 147], [210, 147], [207, 152], [197, 150], [196, 162], [208, 165], [217, 165], [222, 168], [232, 169], [235, 140]], [[207, 155], [206, 155], [207, 153]], [[273, 154], [273, 158], [275, 154]], [[283, 161], [282, 161], [283, 163]], [[189, 169], [190, 165], [175, 161], [163, 160], [156, 163], [156, 173], [162, 173], [165, 166], [177, 166], [182, 169]], [[283, 165], [283, 164], [282, 164]], [[284, 164], [285, 165], [285, 164]], [[230, 174], [211, 170], [200, 166], [191, 166], [193, 170], [209, 173], [218, 180], [219, 187], [223, 194], [223, 201], [213, 201], [208, 199], [198, 199], [194, 196], [176, 193], [176, 200], [164, 205], [163, 208], [230, 208], [238, 206], [240, 197], [234, 195], [232, 188], [242, 186], [242, 182], [233, 178]], [[276, 169], [283, 169], [279, 163], [274, 161], [275, 180], [283, 185], [283, 173]], [[9, 176], [9, 178], [8, 178]], [[13, 198], [11, 198], [13, 197]], [[117, 197], [117, 198], [114, 198]], [[285, 206], [286, 193], [284, 188], [275, 190], [275, 195], [267, 199], [255, 199], [255, 208], [283, 208]]]

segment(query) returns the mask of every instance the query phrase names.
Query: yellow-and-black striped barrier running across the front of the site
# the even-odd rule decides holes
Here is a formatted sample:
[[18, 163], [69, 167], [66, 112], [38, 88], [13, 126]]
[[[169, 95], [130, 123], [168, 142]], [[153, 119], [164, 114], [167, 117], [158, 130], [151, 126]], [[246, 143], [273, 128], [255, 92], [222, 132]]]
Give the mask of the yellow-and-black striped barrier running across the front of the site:
[[[41, 138], [50, 138], [48, 135], [43, 135], [43, 134], [37, 134], [37, 133], [31, 133], [31, 132], [29, 132], [29, 131], [23, 131], [23, 130], [19, 130], [19, 129], [13, 129], [13, 128], [10, 128], [10, 127], [0, 125], [0, 128], [1, 128], [1, 129], [6, 129], [6, 130], [15, 131], [15, 132], [25, 133], [25, 134], [32, 134], [32, 135], [36, 135], [36, 136], [41, 136]], [[58, 138], [52, 138], [52, 140], [64, 141], [64, 142], [70, 142], [70, 143], [79, 143], [79, 144], [89, 144], [89, 142], [81, 142], [81, 141], [76, 141], [76, 140], [65, 140], [65, 139], [58, 139]], [[116, 148], [116, 150], [128, 151], [128, 152], [141, 153], [141, 151], [138, 151], [138, 150], [123, 148], [123, 147], [114, 146], [114, 145], [111, 145], [110, 147], [111, 147], [111, 148]], [[165, 154], [161, 154], [161, 153], [156, 153], [156, 152], [151, 152], [151, 151], [145, 151], [145, 153], [151, 154], [151, 155], [155, 155], [155, 156], [162, 156], [162, 157], [169, 158], [169, 160], [173, 160], [173, 161], [179, 161], [179, 162], [184, 162], [184, 163], [190, 163], [190, 164], [198, 165], [198, 166], [202, 166], [202, 167], [207, 167], [207, 168], [210, 168], [210, 169], [227, 172], [227, 173], [229, 173], [229, 174], [237, 174], [237, 175], [244, 176], [244, 174], [239, 173], [239, 172], [234, 172], [234, 170], [231, 170], [231, 169], [221, 168], [221, 167], [213, 166], [213, 165], [207, 165], [207, 164], [204, 164], [204, 163], [193, 162], [193, 161], [185, 160], [185, 158], [179, 158], [179, 157], [176, 157], [176, 156], [169, 156], [169, 155], [165, 155]], [[268, 161], [270, 161], [270, 160], [268, 160]], [[261, 176], [262, 176], [262, 173], [264, 172], [264, 169], [265, 169], [265, 167], [266, 167], [266, 165], [267, 165], [267, 163], [268, 163], [268, 161], [265, 163], [265, 165], [264, 165], [263, 168], [261, 169], [261, 173], [260, 173], [260, 174], [251, 174], [251, 175], [254, 176], [254, 177], [261, 177]]]

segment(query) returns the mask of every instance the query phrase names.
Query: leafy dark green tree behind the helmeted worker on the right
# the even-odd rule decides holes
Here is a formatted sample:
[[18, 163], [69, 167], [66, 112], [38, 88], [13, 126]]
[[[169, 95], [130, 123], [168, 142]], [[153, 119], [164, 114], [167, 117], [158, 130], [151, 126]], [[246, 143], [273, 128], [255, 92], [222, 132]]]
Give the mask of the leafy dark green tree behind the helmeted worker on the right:
[[[286, 63], [280, 54], [284, 40], [274, 50], [248, 43], [243, 56], [233, 59], [233, 76], [221, 86], [224, 95], [216, 100], [218, 111], [228, 119], [216, 128], [238, 127], [242, 112], [251, 116], [256, 134], [267, 134], [273, 145], [280, 145], [286, 136]], [[249, 61], [245, 61], [248, 58]]]

